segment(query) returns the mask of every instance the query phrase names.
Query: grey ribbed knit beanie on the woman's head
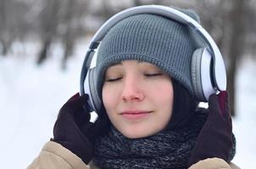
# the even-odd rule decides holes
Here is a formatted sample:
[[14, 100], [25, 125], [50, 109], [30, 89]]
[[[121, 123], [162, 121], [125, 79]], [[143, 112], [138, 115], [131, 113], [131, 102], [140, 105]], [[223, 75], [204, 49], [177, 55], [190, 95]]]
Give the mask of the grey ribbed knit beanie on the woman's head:
[[[192, 10], [181, 10], [193, 19]], [[96, 62], [96, 86], [102, 95], [105, 70], [124, 60], [153, 63], [193, 95], [191, 62], [197, 45], [189, 26], [155, 14], [137, 14], [121, 20], [101, 42]]]

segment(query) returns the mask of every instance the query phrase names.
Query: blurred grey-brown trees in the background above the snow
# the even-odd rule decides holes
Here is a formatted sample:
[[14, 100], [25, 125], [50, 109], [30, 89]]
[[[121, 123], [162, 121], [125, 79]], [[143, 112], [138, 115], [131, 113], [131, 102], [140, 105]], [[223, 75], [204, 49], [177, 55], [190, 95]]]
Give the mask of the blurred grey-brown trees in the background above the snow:
[[[228, 75], [231, 112], [235, 114], [237, 66], [256, 53], [256, 1], [253, 0], [0, 0], [0, 57], [14, 41], [40, 41], [37, 64], [49, 56], [54, 41], [64, 47], [62, 68], [72, 56], [75, 41], [92, 36], [117, 12], [144, 4], [193, 8], [201, 24], [220, 46]], [[253, 20], [254, 19], [254, 20]]]

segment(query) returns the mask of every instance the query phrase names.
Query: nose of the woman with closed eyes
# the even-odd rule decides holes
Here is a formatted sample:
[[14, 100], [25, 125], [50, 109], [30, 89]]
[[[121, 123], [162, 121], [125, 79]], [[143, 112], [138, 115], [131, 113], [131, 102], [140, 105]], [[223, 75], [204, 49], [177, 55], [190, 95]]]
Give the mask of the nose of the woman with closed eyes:
[[127, 76], [124, 80], [121, 99], [123, 101], [142, 101], [145, 97], [141, 83], [135, 76]]

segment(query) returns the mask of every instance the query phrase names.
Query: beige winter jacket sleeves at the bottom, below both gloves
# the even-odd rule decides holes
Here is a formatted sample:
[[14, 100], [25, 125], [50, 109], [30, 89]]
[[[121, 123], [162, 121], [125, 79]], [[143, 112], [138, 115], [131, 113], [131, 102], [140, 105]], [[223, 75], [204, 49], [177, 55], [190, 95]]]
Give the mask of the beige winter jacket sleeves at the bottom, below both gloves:
[[[42, 148], [41, 153], [36, 157], [27, 169], [98, 169], [97, 166], [86, 164], [65, 149], [61, 144], [53, 141], [47, 142]], [[189, 169], [239, 169], [234, 164], [228, 164], [219, 158], [210, 158], [189, 167]]]

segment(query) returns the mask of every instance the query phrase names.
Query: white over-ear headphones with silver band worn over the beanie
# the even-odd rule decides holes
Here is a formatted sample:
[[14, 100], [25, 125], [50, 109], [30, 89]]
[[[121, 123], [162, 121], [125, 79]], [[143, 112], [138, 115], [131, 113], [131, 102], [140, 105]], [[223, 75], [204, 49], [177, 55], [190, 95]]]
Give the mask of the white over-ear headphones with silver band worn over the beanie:
[[102, 101], [97, 94], [95, 85], [94, 70], [90, 68], [92, 57], [95, 49], [103, 40], [109, 30], [120, 22], [120, 20], [128, 18], [136, 14], [157, 14], [177, 22], [190, 26], [209, 47], [198, 48], [192, 55], [192, 87], [198, 101], [208, 101], [209, 95], [225, 90], [226, 74], [225, 64], [221, 56], [218, 46], [209, 33], [203, 29], [201, 25], [190, 16], [183, 14], [175, 8], [169, 8], [159, 5], [145, 5], [134, 8], [128, 8], [115, 14], [107, 22], [105, 22], [96, 34], [92, 37], [86, 57], [81, 70], [81, 95], [85, 93], [90, 96], [89, 104], [92, 110], [98, 112], [102, 108]]

